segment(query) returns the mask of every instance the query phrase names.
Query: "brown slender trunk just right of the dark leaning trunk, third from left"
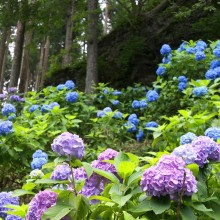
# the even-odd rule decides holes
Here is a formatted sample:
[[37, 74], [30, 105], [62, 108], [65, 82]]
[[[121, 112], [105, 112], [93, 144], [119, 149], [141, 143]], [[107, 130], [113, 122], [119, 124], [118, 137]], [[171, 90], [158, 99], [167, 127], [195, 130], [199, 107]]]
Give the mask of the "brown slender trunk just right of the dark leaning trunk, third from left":
[[29, 73], [29, 45], [31, 43], [33, 36], [33, 31], [30, 30], [25, 34], [25, 46], [24, 46], [24, 52], [23, 52], [23, 58], [22, 58], [22, 66], [21, 66], [21, 74], [20, 74], [20, 83], [19, 83], [19, 92], [24, 93], [27, 79], [28, 79], [28, 73]]

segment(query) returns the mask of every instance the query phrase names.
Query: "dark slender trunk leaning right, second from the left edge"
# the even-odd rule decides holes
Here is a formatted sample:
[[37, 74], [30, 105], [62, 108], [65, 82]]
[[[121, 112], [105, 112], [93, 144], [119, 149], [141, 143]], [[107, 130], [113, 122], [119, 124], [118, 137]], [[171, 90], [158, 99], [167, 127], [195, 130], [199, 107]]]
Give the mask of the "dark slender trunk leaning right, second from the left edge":
[[21, 69], [23, 44], [24, 44], [24, 32], [25, 32], [25, 23], [18, 21], [15, 49], [14, 49], [14, 58], [12, 62], [9, 87], [16, 87], [18, 85], [18, 79]]

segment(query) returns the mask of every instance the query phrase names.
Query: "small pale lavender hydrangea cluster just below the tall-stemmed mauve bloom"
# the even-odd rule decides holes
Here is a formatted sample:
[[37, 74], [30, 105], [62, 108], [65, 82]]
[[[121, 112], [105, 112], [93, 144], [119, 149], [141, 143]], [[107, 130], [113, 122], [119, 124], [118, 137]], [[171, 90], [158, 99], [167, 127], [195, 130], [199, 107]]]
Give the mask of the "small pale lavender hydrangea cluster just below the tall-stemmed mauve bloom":
[[51, 174], [53, 180], [67, 180], [71, 174], [71, 169], [67, 164], [57, 165]]

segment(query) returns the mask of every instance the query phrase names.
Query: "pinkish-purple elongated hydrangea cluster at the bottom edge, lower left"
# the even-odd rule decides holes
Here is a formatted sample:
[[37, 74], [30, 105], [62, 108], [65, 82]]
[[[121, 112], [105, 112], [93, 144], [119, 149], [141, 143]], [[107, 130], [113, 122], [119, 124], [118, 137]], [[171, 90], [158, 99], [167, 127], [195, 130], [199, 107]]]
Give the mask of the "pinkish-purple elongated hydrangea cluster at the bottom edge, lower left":
[[29, 203], [27, 220], [41, 220], [42, 214], [57, 201], [57, 194], [51, 190], [37, 193]]

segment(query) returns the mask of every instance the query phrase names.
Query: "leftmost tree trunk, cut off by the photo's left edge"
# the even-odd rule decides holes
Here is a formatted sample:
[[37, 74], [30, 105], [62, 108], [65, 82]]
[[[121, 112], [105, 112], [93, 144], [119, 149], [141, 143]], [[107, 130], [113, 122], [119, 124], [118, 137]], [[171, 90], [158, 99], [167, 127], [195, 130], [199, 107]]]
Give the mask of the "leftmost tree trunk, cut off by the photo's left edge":
[[0, 93], [3, 92], [4, 87], [4, 69], [8, 53], [8, 41], [11, 33], [11, 28], [4, 28], [0, 44]]

